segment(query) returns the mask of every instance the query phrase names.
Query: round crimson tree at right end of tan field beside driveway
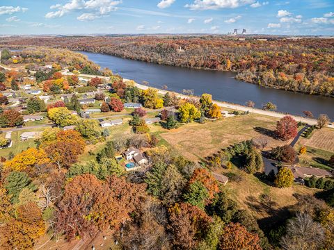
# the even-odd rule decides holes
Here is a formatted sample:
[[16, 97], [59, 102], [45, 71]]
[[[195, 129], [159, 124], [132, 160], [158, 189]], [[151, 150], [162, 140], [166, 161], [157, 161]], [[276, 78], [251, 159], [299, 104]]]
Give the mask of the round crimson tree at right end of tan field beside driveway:
[[298, 133], [298, 124], [289, 115], [286, 115], [282, 119], [280, 119], [276, 124], [276, 135], [283, 140], [289, 140], [291, 138], [295, 138]]

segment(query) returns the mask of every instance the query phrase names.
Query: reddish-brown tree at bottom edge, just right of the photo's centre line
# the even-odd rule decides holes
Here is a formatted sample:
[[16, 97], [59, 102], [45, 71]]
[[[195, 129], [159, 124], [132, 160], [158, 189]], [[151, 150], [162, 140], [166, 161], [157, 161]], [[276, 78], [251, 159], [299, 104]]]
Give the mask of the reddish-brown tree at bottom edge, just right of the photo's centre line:
[[189, 203], [175, 203], [169, 209], [168, 225], [173, 234], [173, 244], [180, 249], [193, 249], [201, 240], [211, 218], [197, 206]]

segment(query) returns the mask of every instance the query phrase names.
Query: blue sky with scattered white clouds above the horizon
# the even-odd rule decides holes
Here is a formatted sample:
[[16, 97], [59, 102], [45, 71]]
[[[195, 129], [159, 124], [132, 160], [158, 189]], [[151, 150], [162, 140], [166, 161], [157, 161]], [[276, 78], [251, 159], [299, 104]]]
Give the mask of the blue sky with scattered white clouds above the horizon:
[[333, 0], [0, 0], [0, 35], [334, 35]]

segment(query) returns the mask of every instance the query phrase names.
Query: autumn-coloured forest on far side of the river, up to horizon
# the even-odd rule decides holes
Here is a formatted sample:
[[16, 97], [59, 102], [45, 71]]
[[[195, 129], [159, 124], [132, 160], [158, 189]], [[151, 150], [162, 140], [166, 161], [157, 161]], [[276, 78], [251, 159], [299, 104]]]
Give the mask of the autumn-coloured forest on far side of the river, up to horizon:
[[202, 37], [1, 38], [4, 46], [66, 47], [150, 63], [237, 72], [249, 83], [334, 96], [333, 39]]

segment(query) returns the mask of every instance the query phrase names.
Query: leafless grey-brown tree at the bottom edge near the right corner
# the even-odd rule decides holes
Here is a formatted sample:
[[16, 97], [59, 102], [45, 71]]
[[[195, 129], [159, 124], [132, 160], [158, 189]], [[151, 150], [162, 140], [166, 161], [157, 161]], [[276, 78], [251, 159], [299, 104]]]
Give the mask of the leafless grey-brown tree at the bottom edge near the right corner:
[[282, 238], [281, 245], [287, 250], [321, 249], [324, 240], [321, 224], [314, 222], [307, 213], [297, 213], [296, 218], [287, 223], [287, 235]]

